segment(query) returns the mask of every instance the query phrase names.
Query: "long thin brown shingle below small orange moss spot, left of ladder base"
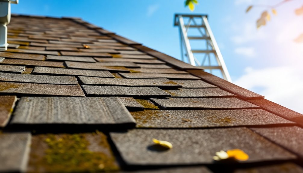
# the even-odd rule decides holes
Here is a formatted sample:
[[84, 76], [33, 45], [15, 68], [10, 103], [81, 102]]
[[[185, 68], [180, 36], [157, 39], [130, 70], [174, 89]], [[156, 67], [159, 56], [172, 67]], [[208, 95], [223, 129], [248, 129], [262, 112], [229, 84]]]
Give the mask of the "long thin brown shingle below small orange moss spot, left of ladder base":
[[96, 57], [95, 60], [98, 62], [134, 62], [134, 63], [142, 63], [142, 64], [166, 64], [160, 60], [153, 60], [153, 59], [131, 59], [131, 58], [98, 58]]

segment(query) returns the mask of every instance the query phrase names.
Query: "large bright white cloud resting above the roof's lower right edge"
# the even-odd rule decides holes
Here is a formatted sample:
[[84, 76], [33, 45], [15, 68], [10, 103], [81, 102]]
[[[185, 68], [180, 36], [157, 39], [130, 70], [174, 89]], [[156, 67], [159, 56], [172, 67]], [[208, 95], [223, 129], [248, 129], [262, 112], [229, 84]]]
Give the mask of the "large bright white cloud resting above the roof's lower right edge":
[[289, 109], [303, 113], [303, 69], [290, 66], [253, 69], [248, 67], [245, 74], [234, 81], [265, 96]]

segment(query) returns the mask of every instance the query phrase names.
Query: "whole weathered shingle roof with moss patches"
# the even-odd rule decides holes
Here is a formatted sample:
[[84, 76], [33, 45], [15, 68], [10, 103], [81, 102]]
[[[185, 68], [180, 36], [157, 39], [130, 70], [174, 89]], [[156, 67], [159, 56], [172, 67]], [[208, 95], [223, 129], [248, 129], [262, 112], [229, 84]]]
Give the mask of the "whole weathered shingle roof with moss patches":
[[0, 172], [303, 172], [303, 115], [198, 67], [79, 18], [13, 15], [8, 43]]

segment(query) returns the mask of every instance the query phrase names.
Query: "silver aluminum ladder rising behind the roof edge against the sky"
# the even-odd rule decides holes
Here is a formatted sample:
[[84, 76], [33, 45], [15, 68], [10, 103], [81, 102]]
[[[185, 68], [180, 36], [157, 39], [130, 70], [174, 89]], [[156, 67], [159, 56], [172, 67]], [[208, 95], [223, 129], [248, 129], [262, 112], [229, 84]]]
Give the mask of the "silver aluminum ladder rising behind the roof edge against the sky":
[[[209, 26], [207, 15], [175, 14], [174, 25], [178, 26], [180, 31], [182, 61], [201, 67], [214, 75], [219, 70], [221, 77], [231, 82], [222, 54]], [[195, 33], [195, 36], [188, 36], [189, 32]], [[190, 40], [195, 40], [197, 49], [191, 48]]]

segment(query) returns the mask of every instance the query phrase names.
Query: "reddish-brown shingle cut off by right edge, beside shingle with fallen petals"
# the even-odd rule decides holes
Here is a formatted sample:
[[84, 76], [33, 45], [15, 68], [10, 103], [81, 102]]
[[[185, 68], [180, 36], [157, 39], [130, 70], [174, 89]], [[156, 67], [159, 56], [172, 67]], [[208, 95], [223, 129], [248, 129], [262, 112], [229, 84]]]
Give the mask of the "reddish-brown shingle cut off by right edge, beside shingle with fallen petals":
[[301, 127], [292, 126], [251, 129], [303, 158], [303, 129]]

